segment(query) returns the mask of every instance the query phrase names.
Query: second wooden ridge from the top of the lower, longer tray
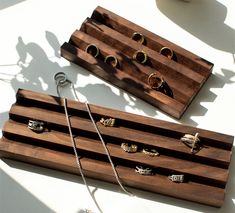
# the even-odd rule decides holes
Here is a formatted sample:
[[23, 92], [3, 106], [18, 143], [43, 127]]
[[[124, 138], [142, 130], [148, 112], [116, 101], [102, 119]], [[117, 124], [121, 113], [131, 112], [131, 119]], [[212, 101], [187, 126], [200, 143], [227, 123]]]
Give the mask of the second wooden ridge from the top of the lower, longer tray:
[[[42, 120], [52, 125], [59, 123], [65, 129], [67, 126], [64, 114], [56, 113], [54, 111], [42, 110], [35, 107], [31, 107], [30, 111], [29, 110], [27, 111], [27, 107], [13, 105], [9, 114], [11, 119], [14, 119], [14, 116], [18, 116], [20, 118], [24, 118], [25, 120], [27, 119]], [[92, 126], [91, 121], [89, 120], [86, 121], [84, 119], [71, 116], [70, 121], [73, 129], [76, 129], [78, 132], [87, 131], [93, 134], [96, 133], [94, 127]], [[218, 164], [219, 166], [228, 166], [231, 158], [231, 156], [229, 155], [230, 153], [229, 151], [220, 150], [213, 147], [202, 148], [202, 150], [200, 150], [197, 155], [191, 155], [190, 149], [187, 146], [185, 146], [182, 142], [180, 142], [179, 139], [177, 140], [174, 138], [151, 134], [151, 133], [143, 134], [143, 132], [135, 129], [127, 129], [122, 127], [106, 128], [99, 123], [97, 123], [97, 125], [101, 134], [104, 136], [110, 136], [119, 139], [120, 132], [122, 132], [122, 137], [119, 140], [124, 142], [146, 144], [149, 146], [155, 146], [156, 148], [160, 147], [161, 149], [175, 151], [177, 153], [183, 153], [187, 156], [190, 156], [190, 158], [193, 158], [194, 156], [196, 157], [200, 156], [204, 160], [208, 159], [209, 161], [211, 161], [211, 159], [213, 160], [214, 156], [216, 156], [216, 160], [214, 163]]]

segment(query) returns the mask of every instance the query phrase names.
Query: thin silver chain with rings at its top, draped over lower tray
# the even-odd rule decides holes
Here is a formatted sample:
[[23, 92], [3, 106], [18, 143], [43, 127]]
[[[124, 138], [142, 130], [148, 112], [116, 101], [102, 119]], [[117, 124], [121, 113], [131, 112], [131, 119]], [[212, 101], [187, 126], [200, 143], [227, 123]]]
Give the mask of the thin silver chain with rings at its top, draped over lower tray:
[[[74, 95], [75, 95], [75, 97], [76, 97], [76, 99], [77, 99], [77, 101], [78, 101], [78, 97], [77, 97], [77, 95], [76, 95], [74, 85], [73, 85], [73, 83], [72, 83], [70, 80], [67, 79], [65, 73], [63, 73], [63, 72], [57, 73], [57, 74], [54, 76], [54, 79], [55, 79], [55, 82], [56, 82], [57, 95], [58, 95], [59, 97], [61, 97], [60, 88], [66, 86], [66, 85], [68, 85], [68, 84], [70, 84], [71, 87], [72, 87], [72, 89], [73, 89], [73, 93], [74, 93]], [[76, 163], [77, 163], [79, 172], [80, 172], [80, 174], [81, 174], [82, 180], [83, 180], [83, 182], [84, 182], [84, 184], [85, 184], [85, 186], [86, 186], [86, 188], [87, 188], [87, 190], [88, 190], [88, 192], [89, 192], [89, 194], [90, 194], [92, 200], [94, 201], [94, 203], [95, 203], [95, 205], [97, 206], [98, 210], [102, 213], [102, 210], [100, 209], [98, 203], [96, 202], [96, 200], [95, 200], [95, 198], [94, 198], [94, 196], [93, 196], [93, 194], [92, 194], [92, 192], [91, 192], [91, 190], [90, 190], [90, 188], [89, 188], [89, 186], [88, 186], [88, 184], [87, 184], [85, 175], [84, 175], [84, 173], [83, 173], [83, 169], [82, 169], [80, 157], [79, 157], [79, 155], [78, 155], [78, 153], [77, 153], [76, 143], [75, 143], [74, 137], [73, 137], [73, 132], [72, 132], [72, 128], [71, 128], [71, 122], [70, 122], [69, 115], [68, 115], [67, 99], [66, 99], [66, 98], [63, 98], [63, 101], [64, 101], [64, 111], [65, 111], [65, 116], [66, 116], [66, 120], [67, 120], [67, 124], [68, 124], [70, 139], [71, 139], [71, 142], [72, 142], [73, 151], [74, 151], [74, 154], [75, 154]], [[96, 132], [97, 132], [97, 134], [98, 134], [98, 136], [99, 136], [99, 138], [100, 138], [100, 141], [102, 142], [102, 145], [103, 145], [104, 150], [105, 150], [105, 152], [106, 152], [106, 155], [107, 155], [107, 157], [108, 157], [108, 159], [109, 159], [110, 165], [112, 166], [113, 173], [114, 173], [114, 175], [115, 175], [115, 178], [116, 178], [116, 180], [117, 180], [119, 186], [121, 187], [121, 189], [122, 189], [126, 194], [128, 194], [129, 196], [133, 196], [133, 194], [130, 193], [128, 190], [126, 190], [125, 187], [122, 185], [121, 180], [120, 180], [120, 178], [119, 178], [119, 176], [118, 176], [117, 170], [116, 170], [116, 168], [115, 168], [115, 165], [114, 165], [114, 163], [113, 163], [113, 161], [112, 161], [112, 159], [111, 159], [109, 150], [107, 149], [106, 144], [105, 144], [105, 142], [104, 142], [104, 140], [103, 140], [103, 137], [102, 137], [102, 135], [101, 135], [101, 133], [100, 133], [100, 131], [99, 131], [99, 129], [98, 129], [96, 123], [95, 123], [95, 120], [94, 120], [94, 118], [93, 118], [93, 116], [92, 116], [92, 113], [91, 113], [91, 110], [90, 110], [90, 106], [89, 106], [89, 104], [88, 104], [87, 102], [85, 102], [85, 105], [86, 105], [86, 109], [87, 109], [87, 112], [88, 112], [88, 114], [89, 114], [89, 117], [90, 117], [90, 119], [91, 119], [91, 121], [92, 121], [92, 124], [93, 124], [93, 126], [94, 126], [94, 128], [95, 128], [95, 130], [96, 130]]]

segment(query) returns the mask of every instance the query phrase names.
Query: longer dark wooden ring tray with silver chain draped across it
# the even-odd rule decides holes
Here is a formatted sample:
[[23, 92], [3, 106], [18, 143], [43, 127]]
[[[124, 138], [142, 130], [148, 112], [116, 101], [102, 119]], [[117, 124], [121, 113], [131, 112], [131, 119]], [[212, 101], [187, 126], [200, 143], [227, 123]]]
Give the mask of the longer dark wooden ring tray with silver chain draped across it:
[[[232, 136], [95, 105], [90, 109], [125, 186], [215, 207], [223, 204]], [[68, 100], [68, 113], [85, 176], [117, 183], [85, 104]], [[114, 127], [100, 123], [107, 117], [116, 119]], [[30, 130], [29, 120], [44, 122], [45, 131]], [[186, 133], [199, 133], [202, 148], [195, 154], [180, 141]], [[136, 144], [137, 152], [125, 152], [123, 142]], [[146, 147], [160, 155], [144, 154]], [[19, 90], [3, 127], [0, 156], [78, 174], [62, 99]], [[136, 166], [153, 168], [155, 174], [141, 175]], [[172, 182], [168, 176], [173, 174], [184, 175], [185, 182]]]

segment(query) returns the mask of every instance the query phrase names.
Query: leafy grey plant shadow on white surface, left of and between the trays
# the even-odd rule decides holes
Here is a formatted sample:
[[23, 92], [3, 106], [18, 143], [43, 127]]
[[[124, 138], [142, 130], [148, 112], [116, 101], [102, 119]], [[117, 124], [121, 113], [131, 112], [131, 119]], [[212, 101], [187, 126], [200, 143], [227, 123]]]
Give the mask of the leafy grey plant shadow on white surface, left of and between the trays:
[[[60, 58], [60, 46], [57, 37], [53, 32], [46, 31], [45, 39], [54, 51], [54, 58]], [[25, 43], [24, 39], [19, 36], [16, 44], [16, 51], [19, 55], [19, 59], [16, 62], [20, 66], [21, 70], [17, 76], [13, 77], [10, 84], [16, 92], [19, 88], [30, 89], [38, 92], [46, 92], [56, 95], [56, 86], [53, 76], [57, 72], [64, 72], [68, 78], [76, 84], [80, 85], [79, 75], [83, 77], [89, 77], [92, 75], [87, 70], [79, 67], [75, 64], [61, 67], [56, 61], [52, 61], [43, 50], [35, 42]], [[32, 59], [27, 64], [27, 58]], [[1, 79], [3, 80], [3, 79]], [[82, 83], [82, 82], [81, 82]], [[75, 86], [78, 93], [86, 97], [89, 103], [101, 105], [109, 108], [125, 111], [126, 106], [131, 107], [139, 111], [143, 111], [148, 116], [155, 116], [156, 110], [154, 107], [145, 107], [148, 105], [142, 100], [139, 100], [120, 89], [119, 94], [115, 94], [111, 87], [103, 83], [88, 83], [85, 86]], [[63, 95], [69, 99], [74, 99], [71, 89], [65, 88]], [[124, 95], [128, 96], [127, 100]]]

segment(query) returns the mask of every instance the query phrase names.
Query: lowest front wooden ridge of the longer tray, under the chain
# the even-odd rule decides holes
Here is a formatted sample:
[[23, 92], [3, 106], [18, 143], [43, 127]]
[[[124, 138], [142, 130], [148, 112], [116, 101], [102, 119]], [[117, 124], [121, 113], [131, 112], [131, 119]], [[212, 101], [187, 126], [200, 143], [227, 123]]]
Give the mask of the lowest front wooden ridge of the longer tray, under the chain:
[[[73, 155], [56, 152], [45, 148], [22, 144], [5, 138], [0, 140], [1, 156], [19, 160], [46, 168], [62, 170], [79, 174]], [[108, 163], [87, 158], [81, 158], [83, 171], [86, 176], [116, 183], [111, 167]], [[198, 183], [175, 184], [160, 175], [142, 176], [123, 166], [116, 170], [126, 186], [148, 190], [176, 198], [197, 203], [220, 207], [224, 200], [224, 189], [206, 186]]]

